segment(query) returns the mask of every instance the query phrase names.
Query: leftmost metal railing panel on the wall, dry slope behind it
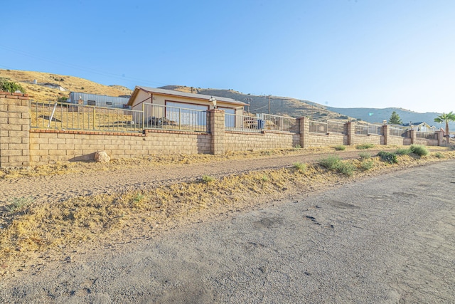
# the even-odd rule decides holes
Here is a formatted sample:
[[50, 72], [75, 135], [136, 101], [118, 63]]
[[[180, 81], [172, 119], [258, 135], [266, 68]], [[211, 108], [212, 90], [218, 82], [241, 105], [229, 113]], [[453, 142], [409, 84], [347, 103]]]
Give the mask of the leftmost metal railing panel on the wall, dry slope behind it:
[[137, 132], [141, 111], [51, 101], [30, 103], [31, 127], [54, 130]]

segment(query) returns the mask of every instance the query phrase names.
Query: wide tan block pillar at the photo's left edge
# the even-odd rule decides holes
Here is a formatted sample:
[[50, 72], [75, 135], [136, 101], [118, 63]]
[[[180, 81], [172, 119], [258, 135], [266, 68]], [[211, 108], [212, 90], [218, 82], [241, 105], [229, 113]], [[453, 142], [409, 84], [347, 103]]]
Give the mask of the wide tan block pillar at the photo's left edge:
[[0, 167], [30, 165], [28, 95], [0, 92]]

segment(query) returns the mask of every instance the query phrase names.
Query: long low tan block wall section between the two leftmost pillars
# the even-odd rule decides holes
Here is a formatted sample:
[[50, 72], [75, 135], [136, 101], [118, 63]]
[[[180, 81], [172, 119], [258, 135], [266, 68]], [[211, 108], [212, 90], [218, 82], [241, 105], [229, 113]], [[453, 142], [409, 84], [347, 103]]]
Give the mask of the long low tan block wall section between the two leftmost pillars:
[[32, 164], [92, 160], [95, 152], [112, 158], [149, 154], [208, 154], [210, 135], [196, 132], [147, 130], [141, 133], [31, 130]]

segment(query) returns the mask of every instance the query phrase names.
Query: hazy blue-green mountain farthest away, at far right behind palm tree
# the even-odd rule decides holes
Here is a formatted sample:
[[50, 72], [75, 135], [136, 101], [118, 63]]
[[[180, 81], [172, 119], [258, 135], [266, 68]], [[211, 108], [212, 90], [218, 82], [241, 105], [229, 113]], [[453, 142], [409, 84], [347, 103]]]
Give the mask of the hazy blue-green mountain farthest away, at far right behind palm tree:
[[[439, 127], [445, 128], [445, 124], [438, 124], [434, 122], [434, 118], [441, 115], [441, 113], [437, 112], [413, 112], [410, 110], [405, 110], [402, 108], [385, 108], [385, 109], [377, 109], [377, 108], [334, 108], [334, 107], [324, 107], [327, 110], [338, 112], [343, 115], [348, 115], [350, 117], [355, 117], [360, 120], [364, 120], [365, 122], [380, 122], [382, 120], [389, 120], [390, 115], [392, 112], [397, 112], [400, 115], [400, 118], [403, 123], [409, 122], [427, 122], [429, 125], [434, 125], [438, 129]], [[451, 130], [455, 129], [455, 122], [449, 123], [449, 127]]]

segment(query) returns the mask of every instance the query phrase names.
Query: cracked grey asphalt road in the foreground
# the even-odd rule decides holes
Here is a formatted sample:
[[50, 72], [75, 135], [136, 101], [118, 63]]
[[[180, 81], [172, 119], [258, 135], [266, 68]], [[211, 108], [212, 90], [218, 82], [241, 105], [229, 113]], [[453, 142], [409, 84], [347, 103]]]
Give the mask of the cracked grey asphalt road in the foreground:
[[455, 162], [55, 262], [5, 303], [453, 303]]

